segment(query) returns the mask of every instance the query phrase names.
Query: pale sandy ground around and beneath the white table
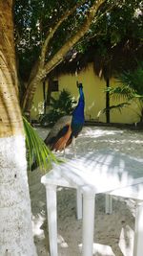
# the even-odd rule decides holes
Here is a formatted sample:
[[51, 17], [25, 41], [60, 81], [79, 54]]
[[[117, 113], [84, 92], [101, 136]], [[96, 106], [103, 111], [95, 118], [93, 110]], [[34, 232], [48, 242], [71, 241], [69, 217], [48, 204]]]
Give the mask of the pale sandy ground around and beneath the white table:
[[[45, 138], [48, 129], [38, 128]], [[85, 127], [76, 140], [77, 157], [87, 151], [111, 149], [142, 158], [143, 131]], [[67, 149], [72, 158], [72, 147]], [[45, 187], [40, 183], [39, 169], [29, 174], [33, 236], [38, 256], [48, 256], [49, 237], [46, 218]], [[59, 256], [80, 256], [82, 221], [76, 220], [75, 190], [58, 188], [58, 251]], [[105, 214], [105, 195], [97, 195], [94, 227], [95, 256], [133, 256], [133, 228], [135, 201], [128, 198], [112, 199], [112, 215]], [[88, 256], [88, 255], [87, 255]]]

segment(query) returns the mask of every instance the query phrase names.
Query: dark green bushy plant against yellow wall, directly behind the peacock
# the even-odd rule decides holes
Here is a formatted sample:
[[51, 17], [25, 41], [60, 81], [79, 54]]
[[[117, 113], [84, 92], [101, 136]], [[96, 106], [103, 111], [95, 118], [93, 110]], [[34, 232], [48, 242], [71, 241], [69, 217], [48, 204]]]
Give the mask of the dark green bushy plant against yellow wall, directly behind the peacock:
[[52, 126], [60, 117], [71, 115], [74, 108], [73, 105], [75, 104], [76, 102], [72, 99], [71, 93], [63, 89], [58, 99], [51, 97], [50, 111], [46, 115], [42, 116], [40, 121], [41, 125], [49, 124]]

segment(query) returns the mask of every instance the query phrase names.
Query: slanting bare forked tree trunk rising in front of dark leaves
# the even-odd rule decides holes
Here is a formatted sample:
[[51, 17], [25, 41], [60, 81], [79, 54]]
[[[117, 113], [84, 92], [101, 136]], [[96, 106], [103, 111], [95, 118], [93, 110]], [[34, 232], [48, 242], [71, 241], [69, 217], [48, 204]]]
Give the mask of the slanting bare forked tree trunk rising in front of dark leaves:
[[[83, 25], [81, 26], [81, 28], [78, 30], [78, 32], [75, 35], [72, 35], [72, 37], [51, 58], [51, 60], [49, 60], [49, 62], [46, 63], [45, 66], [43, 66], [44, 62], [42, 62], [42, 61], [45, 61], [45, 55], [46, 55], [46, 51], [47, 51], [49, 42], [50, 42], [52, 36], [54, 35], [55, 31], [57, 30], [57, 28], [60, 26], [61, 22], [64, 19], [61, 19], [58, 22], [58, 24], [55, 25], [54, 31], [52, 32], [51, 35], [48, 35], [47, 41], [45, 42], [45, 44], [43, 46], [41, 59], [39, 59], [39, 63], [37, 65], [37, 69], [36, 69], [36, 71], [37, 71], [36, 75], [34, 75], [34, 76], [32, 76], [32, 78], [30, 78], [27, 90], [24, 94], [23, 101], [22, 101], [22, 108], [25, 111], [28, 111], [28, 112], [31, 111], [32, 99], [33, 99], [34, 92], [35, 92], [36, 87], [39, 84], [39, 82], [42, 81], [47, 76], [47, 74], [49, 74], [51, 72], [51, 70], [55, 66], [57, 66], [57, 64], [62, 62], [65, 55], [72, 49], [72, 47], [76, 44], [76, 42], [87, 33], [87, 31], [89, 30], [89, 28], [91, 26], [91, 23], [92, 23], [95, 13], [98, 11], [99, 7], [104, 2], [105, 2], [105, 0], [96, 0], [93, 2], [92, 7], [89, 9], [89, 12], [86, 15], [86, 20], [83, 23]], [[67, 13], [67, 17], [69, 15], [70, 14]], [[66, 16], [66, 13], [65, 13], [65, 16]]]

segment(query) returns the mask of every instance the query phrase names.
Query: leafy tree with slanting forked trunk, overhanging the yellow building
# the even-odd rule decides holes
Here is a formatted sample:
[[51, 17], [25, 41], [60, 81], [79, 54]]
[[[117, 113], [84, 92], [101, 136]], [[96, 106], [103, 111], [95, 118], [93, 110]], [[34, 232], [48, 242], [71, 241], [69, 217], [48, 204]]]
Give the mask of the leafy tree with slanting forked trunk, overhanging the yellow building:
[[21, 105], [25, 110], [31, 109], [39, 81], [72, 51], [83, 54], [93, 48], [94, 57], [100, 58], [96, 62], [106, 62], [109, 67], [112, 50], [117, 53], [123, 44], [131, 47], [131, 42], [142, 47], [139, 0], [15, 0], [14, 12], [19, 75], [24, 81]]

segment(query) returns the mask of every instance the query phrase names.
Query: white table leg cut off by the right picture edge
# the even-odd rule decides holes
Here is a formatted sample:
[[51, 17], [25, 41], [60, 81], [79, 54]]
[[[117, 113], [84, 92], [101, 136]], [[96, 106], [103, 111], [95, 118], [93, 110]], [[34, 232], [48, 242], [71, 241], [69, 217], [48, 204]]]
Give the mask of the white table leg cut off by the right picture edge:
[[143, 202], [137, 203], [135, 214], [133, 256], [143, 255]]

